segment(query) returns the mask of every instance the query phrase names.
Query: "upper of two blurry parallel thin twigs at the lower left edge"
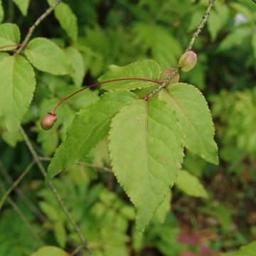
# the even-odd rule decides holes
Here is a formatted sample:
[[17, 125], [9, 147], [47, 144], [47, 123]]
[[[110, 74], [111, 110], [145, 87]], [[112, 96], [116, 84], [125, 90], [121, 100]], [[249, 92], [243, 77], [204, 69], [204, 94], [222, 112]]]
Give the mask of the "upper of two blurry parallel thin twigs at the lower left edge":
[[[6, 169], [4, 168], [4, 164], [2, 163], [2, 161], [0, 160], [0, 171], [1, 174], [4, 176], [4, 178], [6, 179], [6, 181], [9, 183], [9, 185], [11, 185], [14, 181], [11, 178], [11, 176], [9, 175], [9, 173], [6, 171]], [[42, 221], [45, 222], [47, 220], [47, 218], [45, 217], [45, 215], [43, 215], [40, 210], [38, 210], [38, 208], [36, 208], [36, 206], [33, 205], [33, 203], [24, 195], [24, 193], [21, 191], [20, 188], [16, 187], [14, 188], [14, 191], [18, 194], [18, 196], [21, 198], [21, 200], [26, 203], [26, 205], [28, 206], [28, 208], [30, 208], [30, 210]]]

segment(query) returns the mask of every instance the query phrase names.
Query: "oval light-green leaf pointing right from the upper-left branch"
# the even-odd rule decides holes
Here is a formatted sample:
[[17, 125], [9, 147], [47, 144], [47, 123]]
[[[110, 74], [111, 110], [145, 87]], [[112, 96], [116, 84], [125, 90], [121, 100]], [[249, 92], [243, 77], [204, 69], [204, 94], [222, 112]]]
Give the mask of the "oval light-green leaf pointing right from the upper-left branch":
[[53, 75], [70, 73], [70, 63], [65, 53], [46, 38], [35, 38], [26, 47], [28, 60], [38, 69]]

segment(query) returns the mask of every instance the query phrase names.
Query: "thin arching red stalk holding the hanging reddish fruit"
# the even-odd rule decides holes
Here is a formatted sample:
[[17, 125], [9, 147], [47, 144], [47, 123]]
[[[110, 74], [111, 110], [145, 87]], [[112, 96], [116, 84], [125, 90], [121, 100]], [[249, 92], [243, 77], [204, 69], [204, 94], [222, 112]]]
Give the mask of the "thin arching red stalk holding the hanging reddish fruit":
[[83, 87], [82, 89], [76, 91], [76, 92], [73, 92], [72, 94], [68, 95], [67, 97], [63, 98], [63, 100], [60, 100], [60, 102], [58, 102], [58, 104], [53, 108], [53, 110], [50, 112], [50, 114], [55, 114], [55, 111], [58, 109], [58, 107], [63, 103], [65, 102], [66, 100], [68, 100], [70, 97], [73, 97], [74, 95], [78, 94], [78, 92], [82, 92], [82, 90], [86, 90], [90, 87], [95, 87], [97, 85], [102, 85], [102, 84], [105, 84], [105, 83], [108, 83], [108, 82], [119, 82], [119, 81], [125, 81], [125, 80], [142, 80], [142, 81], [147, 81], [147, 82], [155, 82], [159, 85], [161, 85], [161, 81], [159, 80], [151, 80], [151, 79], [148, 79], [148, 78], [118, 78], [118, 79], [113, 79], [113, 80], [107, 80], [107, 81], [103, 81], [103, 82], [97, 82], [93, 85], [87, 85], [86, 87]]

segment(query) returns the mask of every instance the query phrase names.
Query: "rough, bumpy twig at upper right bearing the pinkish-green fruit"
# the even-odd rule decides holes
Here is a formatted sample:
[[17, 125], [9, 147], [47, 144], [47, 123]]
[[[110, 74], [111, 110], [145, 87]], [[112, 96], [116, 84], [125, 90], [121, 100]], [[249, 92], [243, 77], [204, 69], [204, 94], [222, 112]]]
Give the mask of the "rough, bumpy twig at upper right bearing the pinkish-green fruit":
[[[189, 41], [185, 52], [188, 51], [188, 50], [191, 50], [193, 48], [193, 45], [196, 41], [196, 38], [198, 38], [198, 36], [201, 33], [203, 27], [206, 26], [206, 23], [207, 23], [208, 18], [210, 16], [210, 10], [213, 7], [214, 1], [215, 0], [209, 0], [209, 5], [208, 5], [208, 8], [206, 9], [206, 13], [203, 15], [201, 23], [199, 23], [198, 27], [196, 28], [196, 32], [193, 33], [193, 36], [191, 37], [191, 41]], [[159, 87], [157, 87], [156, 90], [154, 90], [153, 92], [149, 92], [149, 94], [147, 94], [145, 97], [143, 97], [143, 100], [149, 100], [151, 97], [156, 95], [164, 87], [168, 86], [169, 82], [171, 81], [172, 78], [175, 77], [175, 75], [178, 73], [178, 71], [179, 71], [179, 68], [175, 68], [174, 71], [161, 83], [161, 85], [159, 85]]]

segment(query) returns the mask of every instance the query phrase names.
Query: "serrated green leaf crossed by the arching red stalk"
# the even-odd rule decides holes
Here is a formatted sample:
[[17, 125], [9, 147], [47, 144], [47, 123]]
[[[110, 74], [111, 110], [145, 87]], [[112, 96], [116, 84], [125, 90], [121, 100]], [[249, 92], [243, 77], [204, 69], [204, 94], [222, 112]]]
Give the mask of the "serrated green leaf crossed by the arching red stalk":
[[[117, 65], [110, 65], [107, 72], [102, 75], [100, 82], [112, 80], [116, 78], [149, 78], [158, 80], [161, 75], [161, 69], [154, 60], [142, 60], [131, 63], [129, 65], [119, 67]], [[138, 88], [149, 87], [154, 85], [154, 82], [127, 80], [122, 82], [111, 82], [102, 85], [105, 90], [135, 90]]]

